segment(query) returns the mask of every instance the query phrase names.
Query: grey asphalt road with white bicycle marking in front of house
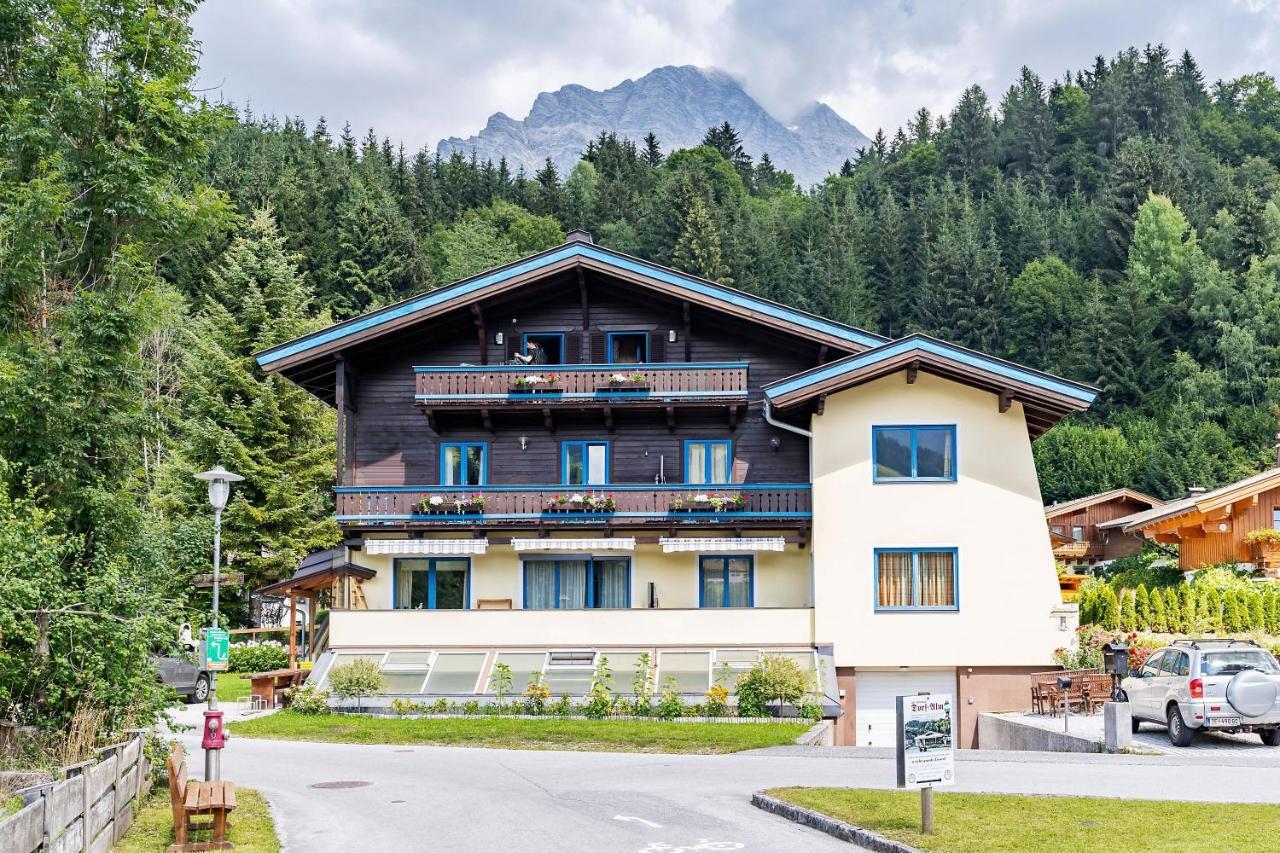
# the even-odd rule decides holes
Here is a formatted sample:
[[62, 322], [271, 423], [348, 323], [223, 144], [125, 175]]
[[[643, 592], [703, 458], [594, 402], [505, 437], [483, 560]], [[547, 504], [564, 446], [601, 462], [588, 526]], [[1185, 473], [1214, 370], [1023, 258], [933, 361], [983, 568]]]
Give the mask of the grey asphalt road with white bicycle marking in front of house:
[[[198, 739], [183, 740], [198, 775]], [[955, 789], [1280, 803], [1274, 762], [1188, 761], [961, 752]], [[888, 751], [809, 747], [653, 756], [232, 739], [223, 777], [268, 797], [291, 852], [847, 853], [847, 844], [751, 807], [750, 794], [891, 788], [893, 761]], [[329, 783], [360, 785], [314, 788]]]

